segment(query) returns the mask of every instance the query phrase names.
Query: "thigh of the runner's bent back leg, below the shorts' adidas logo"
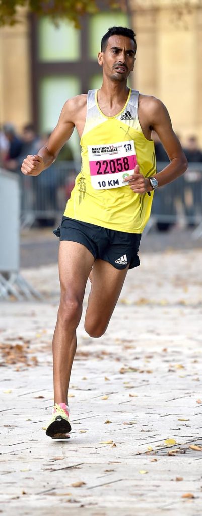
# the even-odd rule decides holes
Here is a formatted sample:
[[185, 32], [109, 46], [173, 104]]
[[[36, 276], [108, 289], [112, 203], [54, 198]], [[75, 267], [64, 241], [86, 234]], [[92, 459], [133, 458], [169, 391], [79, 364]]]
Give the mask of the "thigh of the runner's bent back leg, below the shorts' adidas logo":
[[120, 270], [105, 260], [95, 260], [86, 311], [86, 328], [98, 325], [105, 331], [121, 294], [128, 267]]

